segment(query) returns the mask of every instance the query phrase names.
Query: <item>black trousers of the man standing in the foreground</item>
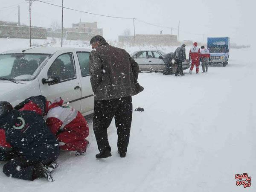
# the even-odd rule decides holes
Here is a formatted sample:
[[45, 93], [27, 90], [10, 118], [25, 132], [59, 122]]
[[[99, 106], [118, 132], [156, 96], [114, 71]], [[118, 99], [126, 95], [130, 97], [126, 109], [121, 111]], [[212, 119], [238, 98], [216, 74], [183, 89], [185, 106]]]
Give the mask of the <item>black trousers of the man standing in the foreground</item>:
[[117, 147], [119, 152], [126, 153], [131, 130], [132, 99], [131, 96], [120, 99], [94, 101], [93, 131], [100, 152], [111, 151], [108, 143], [107, 128], [113, 117], [116, 122]]

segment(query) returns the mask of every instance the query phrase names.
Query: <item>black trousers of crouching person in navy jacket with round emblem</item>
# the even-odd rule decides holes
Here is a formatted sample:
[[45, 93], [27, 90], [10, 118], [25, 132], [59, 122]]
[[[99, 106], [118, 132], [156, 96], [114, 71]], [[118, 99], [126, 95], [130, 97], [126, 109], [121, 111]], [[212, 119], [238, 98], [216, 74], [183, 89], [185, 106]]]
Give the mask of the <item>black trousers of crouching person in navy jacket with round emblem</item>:
[[[16, 152], [6, 153], [5, 151], [1, 151], [0, 149], [0, 154], [1, 160], [9, 160], [3, 166], [3, 173], [8, 177], [12, 176], [23, 180], [35, 180], [36, 178], [39, 177], [38, 174], [40, 173], [40, 170], [38, 170], [38, 163], [50, 165], [58, 157], [51, 157], [40, 161], [28, 161], [26, 160], [26, 157], [17, 156]], [[31, 157], [29, 158], [31, 159]]]

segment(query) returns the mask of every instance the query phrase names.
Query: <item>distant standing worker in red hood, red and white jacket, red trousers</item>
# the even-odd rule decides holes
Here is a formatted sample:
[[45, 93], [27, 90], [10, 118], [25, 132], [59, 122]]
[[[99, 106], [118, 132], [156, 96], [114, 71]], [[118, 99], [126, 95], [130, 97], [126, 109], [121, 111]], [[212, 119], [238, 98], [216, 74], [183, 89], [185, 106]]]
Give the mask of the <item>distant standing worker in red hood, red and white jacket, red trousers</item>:
[[196, 69], [196, 73], [198, 74], [198, 72], [199, 72], [200, 48], [197, 47], [197, 46], [198, 46], [198, 43], [195, 42], [194, 47], [191, 47], [190, 51], [189, 51], [189, 61], [192, 61], [191, 62], [191, 67], [190, 67], [190, 70], [189, 70], [190, 74], [192, 74], [192, 70], [193, 70], [194, 66], [195, 66], [195, 69]]

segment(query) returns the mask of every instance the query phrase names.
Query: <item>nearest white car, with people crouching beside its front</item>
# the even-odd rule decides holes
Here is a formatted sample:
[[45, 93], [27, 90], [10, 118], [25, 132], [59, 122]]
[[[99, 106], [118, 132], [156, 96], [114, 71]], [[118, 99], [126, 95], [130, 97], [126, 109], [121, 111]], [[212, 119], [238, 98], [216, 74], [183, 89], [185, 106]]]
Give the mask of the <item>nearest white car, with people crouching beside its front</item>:
[[0, 54], [0, 101], [13, 106], [30, 96], [61, 97], [85, 116], [93, 113], [91, 49], [32, 48]]

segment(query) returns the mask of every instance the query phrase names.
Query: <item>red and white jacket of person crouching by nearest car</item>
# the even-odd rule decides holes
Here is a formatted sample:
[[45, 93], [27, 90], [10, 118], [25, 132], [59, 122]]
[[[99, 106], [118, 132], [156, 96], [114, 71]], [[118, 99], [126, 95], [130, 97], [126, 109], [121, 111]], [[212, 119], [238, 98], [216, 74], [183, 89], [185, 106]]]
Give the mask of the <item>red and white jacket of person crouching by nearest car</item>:
[[84, 135], [84, 137], [89, 134], [87, 121], [82, 114], [70, 105], [64, 104], [62, 99], [57, 99], [49, 104], [46, 123], [55, 135], [58, 134], [58, 131], [71, 130]]

